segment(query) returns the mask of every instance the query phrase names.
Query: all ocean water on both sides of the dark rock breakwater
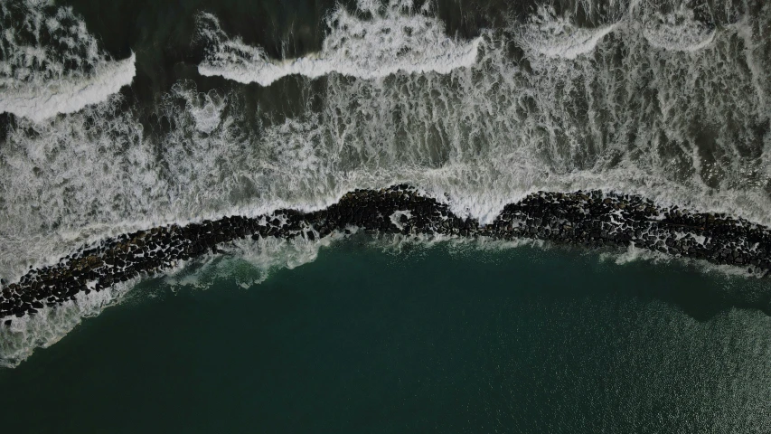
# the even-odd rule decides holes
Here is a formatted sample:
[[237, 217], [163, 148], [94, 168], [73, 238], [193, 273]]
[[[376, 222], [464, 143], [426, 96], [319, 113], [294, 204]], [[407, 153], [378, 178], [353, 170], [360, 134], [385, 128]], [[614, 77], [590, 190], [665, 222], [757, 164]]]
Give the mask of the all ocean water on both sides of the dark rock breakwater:
[[[769, 29], [763, 0], [0, 0], [0, 278], [402, 183], [483, 223], [600, 189], [769, 225]], [[14, 318], [0, 420], [768, 430], [766, 279], [361, 237], [236, 241]]]

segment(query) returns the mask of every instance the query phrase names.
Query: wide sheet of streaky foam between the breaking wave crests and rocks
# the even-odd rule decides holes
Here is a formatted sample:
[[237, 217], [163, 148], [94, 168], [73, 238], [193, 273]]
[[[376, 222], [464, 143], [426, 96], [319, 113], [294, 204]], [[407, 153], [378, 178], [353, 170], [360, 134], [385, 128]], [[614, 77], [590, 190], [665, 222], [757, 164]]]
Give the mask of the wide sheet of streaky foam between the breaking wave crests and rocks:
[[579, 188], [770, 222], [767, 153], [757, 154], [769, 140], [768, 78], [753, 72], [763, 48], [747, 48], [747, 69], [736, 33], [683, 55], [652, 49], [632, 26], [616, 32], [595, 56], [528, 54], [528, 71], [506, 48], [521, 33], [485, 31], [467, 69], [331, 76], [320, 109], [264, 126], [237, 92], [203, 95], [191, 83], [158, 109], [163, 137], [146, 137], [115, 98], [51, 125], [19, 120], [0, 148], [0, 270], [18, 278], [120, 231], [313, 210], [401, 182], [483, 222], [532, 191]]

